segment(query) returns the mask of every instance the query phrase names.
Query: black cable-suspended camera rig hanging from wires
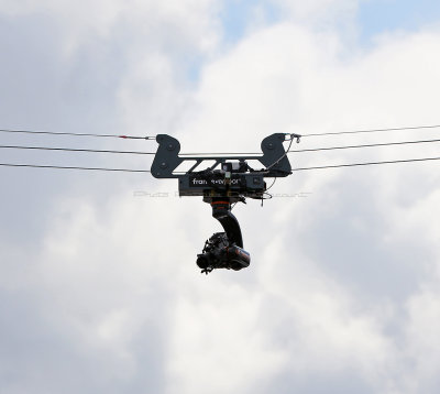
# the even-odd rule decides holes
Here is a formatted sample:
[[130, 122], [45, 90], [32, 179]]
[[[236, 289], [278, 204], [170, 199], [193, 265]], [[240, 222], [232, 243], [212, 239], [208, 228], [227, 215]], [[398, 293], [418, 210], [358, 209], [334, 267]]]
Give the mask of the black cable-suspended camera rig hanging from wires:
[[[286, 177], [292, 174], [287, 157], [292, 142], [299, 142], [299, 134], [275, 133], [266, 136], [261, 149], [263, 155], [229, 155], [229, 156], [179, 156], [180, 143], [170, 135], [158, 134], [157, 152], [151, 167], [156, 178], [177, 178], [179, 196], [202, 196], [204, 201], [212, 207], [212, 216], [220, 221], [224, 232], [216, 232], [209, 238], [200, 254], [197, 255], [197, 265], [202, 273], [208, 274], [216, 269], [242, 270], [251, 262], [250, 254], [243, 249], [243, 238], [240, 225], [231, 212], [231, 205], [245, 198], [263, 200], [267, 195], [265, 178]], [[289, 147], [284, 150], [283, 143], [290, 141]], [[248, 161], [258, 161], [264, 165], [262, 169], [254, 169]], [[213, 164], [202, 167], [204, 162]], [[184, 173], [176, 168], [184, 162], [194, 165]]]

